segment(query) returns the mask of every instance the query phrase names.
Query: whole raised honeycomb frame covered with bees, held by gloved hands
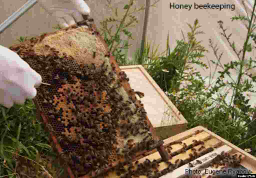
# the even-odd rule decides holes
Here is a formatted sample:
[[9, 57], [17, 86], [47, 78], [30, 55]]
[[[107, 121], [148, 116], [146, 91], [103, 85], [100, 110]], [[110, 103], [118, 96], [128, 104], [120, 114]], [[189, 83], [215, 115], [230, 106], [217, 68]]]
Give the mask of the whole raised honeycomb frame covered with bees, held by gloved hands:
[[97, 176], [158, 148], [168, 154], [93, 19], [10, 47], [51, 84], [34, 102], [70, 177]]

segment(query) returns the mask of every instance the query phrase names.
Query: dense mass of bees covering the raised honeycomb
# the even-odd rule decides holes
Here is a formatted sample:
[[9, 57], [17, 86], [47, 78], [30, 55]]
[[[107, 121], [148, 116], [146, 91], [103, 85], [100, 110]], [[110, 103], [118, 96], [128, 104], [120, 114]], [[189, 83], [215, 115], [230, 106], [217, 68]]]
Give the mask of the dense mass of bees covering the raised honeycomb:
[[[136, 93], [140, 97], [143, 97], [144, 93], [130, 90], [125, 98], [119, 92], [123, 88], [122, 82], [129, 81], [124, 72], [117, 74], [115, 65], [106, 60], [99, 66], [78, 65], [70, 56], [64, 54], [59, 57], [58, 51], [54, 48], [49, 49], [53, 52], [52, 55], [36, 56], [32, 50], [23, 51], [22, 55], [23, 60], [42, 76], [42, 80], [51, 84], [41, 85], [35, 100], [47, 115], [47, 127], [57, 136], [62, 148], [61, 157], [73, 173], [79, 176], [92, 172], [99, 174], [121, 158], [131, 160], [136, 152], [153, 149], [151, 146], [155, 140], [146, 121], [146, 111], [141, 105], [136, 104], [135, 96], [128, 97], [128, 93]], [[109, 55], [108, 53], [103, 57]], [[81, 96], [72, 88], [58, 92], [63, 85], [75, 85], [78, 80], [88, 94]], [[103, 99], [104, 92], [106, 96]], [[57, 100], [60, 96], [65, 96], [66, 104], [72, 105], [72, 118], [68, 119], [67, 125], [63, 124], [63, 115], [68, 114], [65, 108], [57, 109], [57, 105], [63, 101], [56, 102], [54, 95]], [[81, 105], [90, 112], [84, 112]], [[110, 105], [111, 111], [106, 112], [103, 105]], [[131, 120], [132, 117], [137, 120]], [[63, 134], [63, 128], [70, 133], [72, 127], [76, 128], [76, 139]], [[116, 138], [117, 133], [128, 140], [127, 143], [132, 140], [129, 137], [138, 136], [142, 139], [133, 144], [125, 144], [122, 148]], [[115, 150], [117, 156], [110, 162], [112, 150]]]

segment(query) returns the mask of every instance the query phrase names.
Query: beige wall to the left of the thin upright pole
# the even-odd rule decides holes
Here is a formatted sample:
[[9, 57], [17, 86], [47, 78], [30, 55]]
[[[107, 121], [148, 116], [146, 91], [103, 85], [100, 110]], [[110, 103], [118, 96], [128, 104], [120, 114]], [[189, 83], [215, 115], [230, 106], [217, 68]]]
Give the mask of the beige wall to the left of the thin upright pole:
[[[4, 22], [12, 13], [23, 6], [27, 0], [9, 0], [0, 2], [0, 23]], [[119, 8], [119, 14], [123, 14], [123, 7], [129, 0], [112, 0], [113, 7]], [[100, 22], [107, 17], [111, 16], [111, 11], [105, 6], [106, 0], [87, 0], [86, 3], [91, 8], [91, 16], [94, 18], [98, 28], [100, 28]], [[138, 7], [145, 5], [145, 0], [137, 1]], [[144, 11], [134, 14], [138, 19], [136, 27], [132, 27], [130, 31], [133, 33], [135, 40], [129, 42], [133, 44], [129, 50], [129, 56], [133, 54], [136, 47], [140, 47], [140, 41], [142, 37]], [[12, 26], [7, 28], [2, 34], [0, 34], [0, 45], [10, 46], [14, 43], [18, 43], [16, 40], [20, 36], [33, 37], [40, 35], [44, 32], [54, 31], [52, 27], [57, 23], [47, 12], [42, 9], [39, 4], [29, 9], [22, 17], [20, 17]]]

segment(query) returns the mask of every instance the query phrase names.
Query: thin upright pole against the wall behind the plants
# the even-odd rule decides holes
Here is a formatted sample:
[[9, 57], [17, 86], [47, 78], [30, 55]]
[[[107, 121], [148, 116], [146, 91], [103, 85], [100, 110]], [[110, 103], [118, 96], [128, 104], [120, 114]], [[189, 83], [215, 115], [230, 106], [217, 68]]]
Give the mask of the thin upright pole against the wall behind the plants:
[[150, 7], [150, 0], [146, 0], [139, 64], [142, 64], [142, 55], [144, 52], [145, 38], [146, 38], [146, 33], [147, 33], [149, 7]]

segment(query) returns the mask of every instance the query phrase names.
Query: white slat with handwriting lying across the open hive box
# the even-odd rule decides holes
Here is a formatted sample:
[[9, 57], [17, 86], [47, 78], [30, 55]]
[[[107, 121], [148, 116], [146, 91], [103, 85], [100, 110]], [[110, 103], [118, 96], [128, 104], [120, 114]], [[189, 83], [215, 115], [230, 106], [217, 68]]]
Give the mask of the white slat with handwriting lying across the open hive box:
[[188, 170], [188, 169], [190, 169], [192, 171], [196, 170], [196, 169], [202, 167], [203, 165], [210, 163], [222, 151], [230, 152], [231, 150], [232, 150], [231, 147], [229, 147], [227, 145], [223, 145], [220, 148], [217, 148], [216, 150], [214, 150], [210, 153], [207, 153], [206, 155], [203, 155], [200, 158], [198, 158], [197, 160], [202, 161], [202, 164], [198, 164], [196, 161], [191, 161], [191, 163], [195, 165], [194, 167], [191, 168], [191, 167], [189, 167], [188, 164], [185, 164], [185, 165], [175, 169], [173, 172], [170, 172], [170, 173], [162, 176], [162, 178], [164, 178], [164, 177], [172, 177], [172, 178], [183, 177], [186, 174], [185, 170]]

